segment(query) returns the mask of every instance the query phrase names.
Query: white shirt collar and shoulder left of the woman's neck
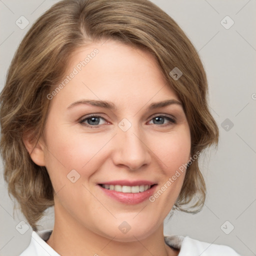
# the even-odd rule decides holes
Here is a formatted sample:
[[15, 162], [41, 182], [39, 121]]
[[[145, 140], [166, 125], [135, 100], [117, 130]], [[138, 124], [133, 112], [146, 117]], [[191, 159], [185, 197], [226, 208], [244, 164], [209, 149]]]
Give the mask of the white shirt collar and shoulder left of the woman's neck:
[[60, 256], [46, 243], [51, 231], [52, 230], [32, 231], [28, 247], [19, 256]]

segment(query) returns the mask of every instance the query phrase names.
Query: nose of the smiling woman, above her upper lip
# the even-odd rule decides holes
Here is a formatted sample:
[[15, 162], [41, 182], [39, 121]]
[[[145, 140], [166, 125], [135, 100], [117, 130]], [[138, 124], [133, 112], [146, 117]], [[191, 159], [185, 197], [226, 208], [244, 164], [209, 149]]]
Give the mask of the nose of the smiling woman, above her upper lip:
[[113, 162], [116, 165], [125, 165], [131, 170], [139, 169], [149, 164], [151, 160], [147, 141], [139, 129], [132, 125], [128, 130], [118, 128], [114, 136]]

